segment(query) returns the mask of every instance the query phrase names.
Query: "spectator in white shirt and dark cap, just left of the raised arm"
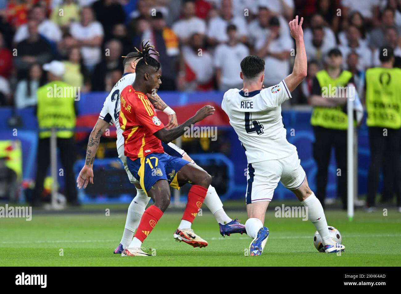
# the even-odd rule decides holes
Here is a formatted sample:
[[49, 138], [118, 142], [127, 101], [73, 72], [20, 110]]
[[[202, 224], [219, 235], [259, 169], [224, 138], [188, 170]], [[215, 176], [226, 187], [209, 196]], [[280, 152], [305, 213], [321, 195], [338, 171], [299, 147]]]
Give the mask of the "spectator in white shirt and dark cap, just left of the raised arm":
[[260, 42], [255, 44], [256, 55], [265, 60], [265, 86], [269, 87], [278, 84], [288, 75], [290, 50], [294, 43], [288, 36], [281, 35], [279, 20], [275, 16], [269, 20], [268, 35], [259, 38]]

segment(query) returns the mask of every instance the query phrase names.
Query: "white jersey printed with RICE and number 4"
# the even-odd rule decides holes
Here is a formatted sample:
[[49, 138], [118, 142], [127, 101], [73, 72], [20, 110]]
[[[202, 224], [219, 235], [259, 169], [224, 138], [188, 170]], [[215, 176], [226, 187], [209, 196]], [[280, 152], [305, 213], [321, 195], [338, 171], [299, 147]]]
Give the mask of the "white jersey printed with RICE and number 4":
[[248, 163], [281, 159], [296, 152], [287, 141], [281, 116], [281, 104], [290, 98], [284, 80], [249, 93], [238, 89], [225, 92], [221, 108], [245, 149]]

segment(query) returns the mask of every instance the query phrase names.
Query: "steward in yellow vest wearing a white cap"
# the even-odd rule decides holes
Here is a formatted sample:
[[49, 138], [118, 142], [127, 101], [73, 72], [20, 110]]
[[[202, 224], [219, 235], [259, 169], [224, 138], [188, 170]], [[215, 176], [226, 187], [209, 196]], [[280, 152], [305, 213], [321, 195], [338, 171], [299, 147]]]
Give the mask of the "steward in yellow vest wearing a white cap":
[[40, 205], [43, 193], [43, 182], [50, 165], [50, 136], [51, 129], [56, 129], [57, 148], [63, 164], [63, 178], [67, 202], [77, 205], [77, 190], [73, 164], [75, 152], [75, 100], [79, 100], [80, 89], [62, 82], [65, 66], [62, 62], [53, 60], [43, 65], [47, 71], [49, 83], [36, 92], [38, 103], [36, 117], [38, 119], [38, 149], [37, 168], [33, 205]]

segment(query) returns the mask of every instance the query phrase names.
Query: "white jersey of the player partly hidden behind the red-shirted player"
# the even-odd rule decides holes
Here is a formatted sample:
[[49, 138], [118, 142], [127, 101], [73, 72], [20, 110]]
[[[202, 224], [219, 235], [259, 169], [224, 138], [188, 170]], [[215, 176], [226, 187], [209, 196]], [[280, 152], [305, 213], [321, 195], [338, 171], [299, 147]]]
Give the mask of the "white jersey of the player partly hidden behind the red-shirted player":
[[113, 89], [111, 89], [99, 114], [99, 118], [108, 122], [110, 125], [114, 124], [117, 128], [117, 150], [120, 146], [124, 145], [123, 130], [120, 128], [120, 123], [118, 121], [118, 115], [120, 113], [120, 93], [126, 86], [134, 83], [135, 76], [135, 73], [123, 74], [122, 78], [114, 85]]

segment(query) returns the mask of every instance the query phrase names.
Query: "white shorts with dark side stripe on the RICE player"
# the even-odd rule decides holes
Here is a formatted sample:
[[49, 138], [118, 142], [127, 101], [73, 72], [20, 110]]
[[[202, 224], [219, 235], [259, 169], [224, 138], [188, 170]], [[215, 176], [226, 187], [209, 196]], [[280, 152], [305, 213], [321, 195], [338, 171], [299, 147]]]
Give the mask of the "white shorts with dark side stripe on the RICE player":
[[271, 201], [280, 181], [290, 190], [299, 188], [306, 174], [298, 158], [298, 152], [276, 160], [248, 164], [246, 203]]

